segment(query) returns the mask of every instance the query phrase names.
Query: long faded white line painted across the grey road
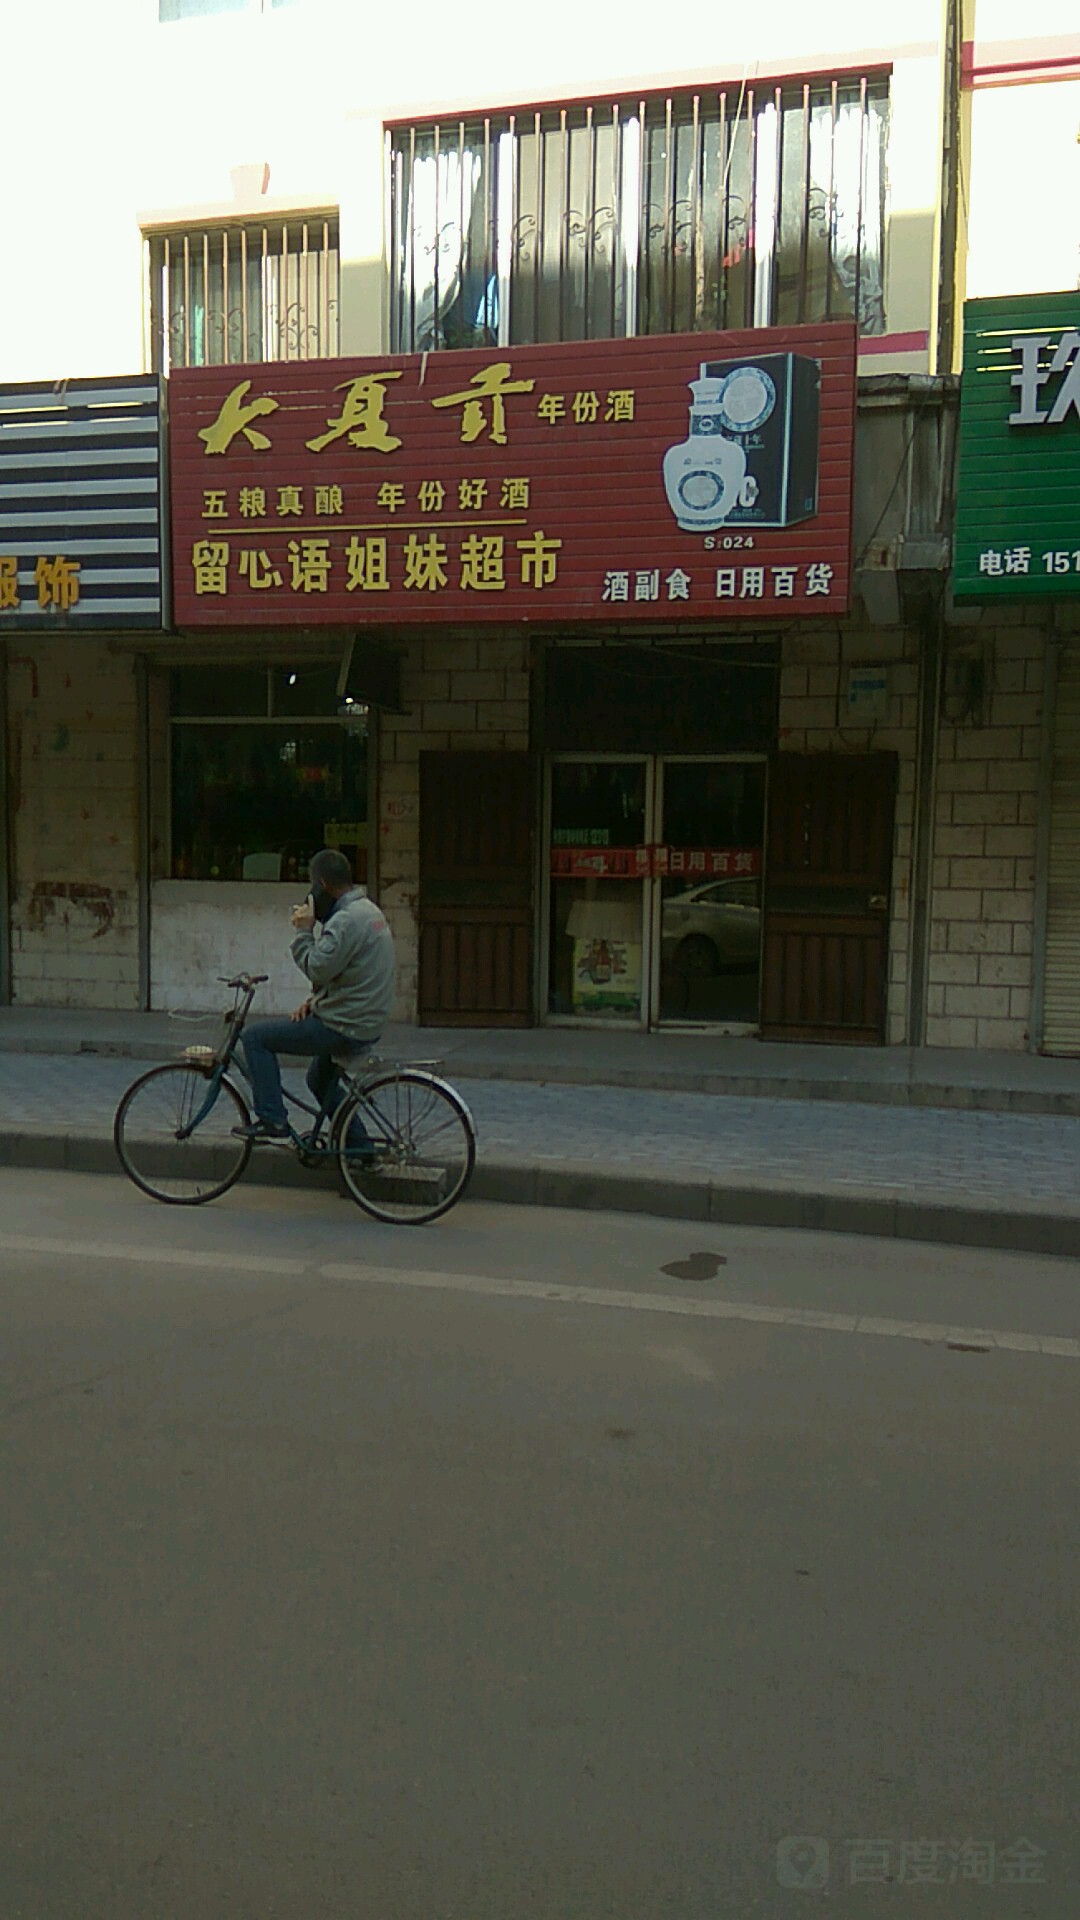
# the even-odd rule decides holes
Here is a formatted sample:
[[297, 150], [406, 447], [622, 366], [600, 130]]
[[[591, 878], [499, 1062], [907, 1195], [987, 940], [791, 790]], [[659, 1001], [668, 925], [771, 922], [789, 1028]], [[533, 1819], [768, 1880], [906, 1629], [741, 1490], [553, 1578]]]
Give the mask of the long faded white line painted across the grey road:
[[511, 1281], [488, 1273], [417, 1273], [361, 1261], [275, 1260], [263, 1254], [196, 1252], [177, 1246], [125, 1246], [115, 1240], [81, 1244], [44, 1235], [0, 1235], [0, 1252], [52, 1254], [61, 1260], [115, 1260], [144, 1267], [198, 1267], [211, 1273], [254, 1273], [286, 1279], [344, 1281], [348, 1284], [409, 1286], [421, 1292], [479, 1294], [492, 1300], [546, 1300], [571, 1308], [607, 1308], [628, 1313], [669, 1313], [682, 1319], [746, 1321], [759, 1327], [805, 1327], [819, 1332], [857, 1332], [884, 1340], [920, 1340], [926, 1346], [972, 1346], [1003, 1354], [1043, 1354], [1080, 1359], [1080, 1340], [1045, 1332], [1007, 1332], [992, 1327], [949, 1327], [938, 1321], [899, 1321], [874, 1313], [826, 1313], [817, 1308], [769, 1308], [753, 1300], [700, 1300], [688, 1294], [638, 1294], [615, 1286], [563, 1286], [555, 1281]]

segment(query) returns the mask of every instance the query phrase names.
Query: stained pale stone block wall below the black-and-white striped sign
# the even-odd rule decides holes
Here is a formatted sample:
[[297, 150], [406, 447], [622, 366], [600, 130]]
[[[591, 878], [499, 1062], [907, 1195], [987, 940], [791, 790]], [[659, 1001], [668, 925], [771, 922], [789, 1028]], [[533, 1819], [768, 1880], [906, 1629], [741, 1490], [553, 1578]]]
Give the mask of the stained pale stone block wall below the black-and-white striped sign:
[[138, 766], [131, 659], [100, 641], [8, 649], [12, 996], [138, 1004]]

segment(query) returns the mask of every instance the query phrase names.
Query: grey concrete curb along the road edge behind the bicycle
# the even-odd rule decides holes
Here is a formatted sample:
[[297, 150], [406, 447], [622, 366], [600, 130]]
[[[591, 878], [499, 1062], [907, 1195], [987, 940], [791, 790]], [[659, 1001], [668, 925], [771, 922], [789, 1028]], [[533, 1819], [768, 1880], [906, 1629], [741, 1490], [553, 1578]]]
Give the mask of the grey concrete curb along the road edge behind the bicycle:
[[[111, 1137], [77, 1129], [0, 1129], [0, 1165], [50, 1173], [119, 1173]], [[331, 1169], [307, 1171], [292, 1154], [281, 1152], [256, 1152], [244, 1181], [298, 1188], [311, 1188], [315, 1183], [325, 1192], [336, 1190]], [[650, 1213], [711, 1227], [792, 1227], [799, 1233], [859, 1233], [886, 1240], [1080, 1258], [1080, 1206], [1057, 1212], [994, 1202], [963, 1206], [947, 1194], [913, 1194], [901, 1188], [642, 1179], [615, 1167], [582, 1169], [484, 1158], [477, 1164], [469, 1198], [505, 1206]]]

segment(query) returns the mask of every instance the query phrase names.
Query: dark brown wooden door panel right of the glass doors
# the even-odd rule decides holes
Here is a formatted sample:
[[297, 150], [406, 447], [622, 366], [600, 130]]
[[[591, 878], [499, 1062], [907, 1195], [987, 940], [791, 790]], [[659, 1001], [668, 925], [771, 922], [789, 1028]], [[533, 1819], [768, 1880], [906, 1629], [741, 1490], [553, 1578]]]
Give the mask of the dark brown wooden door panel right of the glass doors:
[[761, 1033], [884, 1041], [896, 755], [776, 755]]

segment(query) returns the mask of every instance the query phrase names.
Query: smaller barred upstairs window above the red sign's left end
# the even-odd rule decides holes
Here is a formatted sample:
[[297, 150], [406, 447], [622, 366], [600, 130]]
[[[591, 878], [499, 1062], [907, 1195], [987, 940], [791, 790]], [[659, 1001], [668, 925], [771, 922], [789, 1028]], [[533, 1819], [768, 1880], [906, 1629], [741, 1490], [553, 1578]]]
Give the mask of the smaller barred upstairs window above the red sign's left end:
[[338, 219], [311, 213], [146, 236], [150, 369], [338, 351]]

